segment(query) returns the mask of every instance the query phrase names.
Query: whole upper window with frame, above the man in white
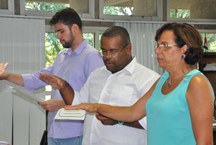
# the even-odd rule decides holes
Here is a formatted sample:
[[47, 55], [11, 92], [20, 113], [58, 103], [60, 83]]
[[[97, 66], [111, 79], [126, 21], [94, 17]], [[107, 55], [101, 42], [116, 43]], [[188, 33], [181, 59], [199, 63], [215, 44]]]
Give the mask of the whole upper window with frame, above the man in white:
[[100, 17], [126, 20], [161, 20], [161, 0], [100, 0]]

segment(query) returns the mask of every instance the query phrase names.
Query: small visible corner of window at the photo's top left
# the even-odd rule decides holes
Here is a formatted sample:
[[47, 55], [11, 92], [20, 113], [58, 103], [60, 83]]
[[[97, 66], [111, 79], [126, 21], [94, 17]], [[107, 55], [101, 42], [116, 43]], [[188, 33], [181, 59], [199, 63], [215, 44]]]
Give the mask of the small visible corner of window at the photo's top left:
[[14, 0], [0, 0], [0, 14], [14, 14]]

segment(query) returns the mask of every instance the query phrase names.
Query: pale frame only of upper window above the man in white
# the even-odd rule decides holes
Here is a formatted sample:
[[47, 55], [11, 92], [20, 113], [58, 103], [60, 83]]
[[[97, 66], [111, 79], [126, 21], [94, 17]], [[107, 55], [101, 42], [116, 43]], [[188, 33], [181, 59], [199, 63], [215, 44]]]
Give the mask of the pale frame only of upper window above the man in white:
[[109, 20], [132, 20], [132, 21], [162, 21], [163, 17], [163, 0], [157, 1], [157, 16], [142, 17], [142, 16], [118, 16], [103, 14], [104, 0], [99, 0], [99, 18]]

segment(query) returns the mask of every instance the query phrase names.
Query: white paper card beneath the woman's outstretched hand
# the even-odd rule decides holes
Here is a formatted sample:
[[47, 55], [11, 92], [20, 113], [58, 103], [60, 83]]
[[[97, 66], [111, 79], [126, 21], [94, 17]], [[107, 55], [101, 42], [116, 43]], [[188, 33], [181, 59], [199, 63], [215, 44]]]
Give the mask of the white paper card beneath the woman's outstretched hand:
[[84, 120], [85, 110], [65, 110], [61, 108], [58, 110], [55, 119], [56, 120]]

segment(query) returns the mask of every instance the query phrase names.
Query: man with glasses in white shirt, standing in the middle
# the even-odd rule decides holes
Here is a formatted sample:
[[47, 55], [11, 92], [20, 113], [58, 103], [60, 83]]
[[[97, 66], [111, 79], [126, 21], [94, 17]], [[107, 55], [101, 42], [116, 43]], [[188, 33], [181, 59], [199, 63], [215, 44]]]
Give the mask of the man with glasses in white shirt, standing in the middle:
[[[156, 72], [132, 57], [125, 28], [108, 28], [102, 35], [101, 49], [105, 67], [93, 71], [80, 92], [56, 76], [41, 74], [41, 79], [58, 88], [66, 104], [130, 106], [159, 78]], [[145, 118], [129, 123], [89, 113], [84, 122], [83, 145], [147, 145]]]

